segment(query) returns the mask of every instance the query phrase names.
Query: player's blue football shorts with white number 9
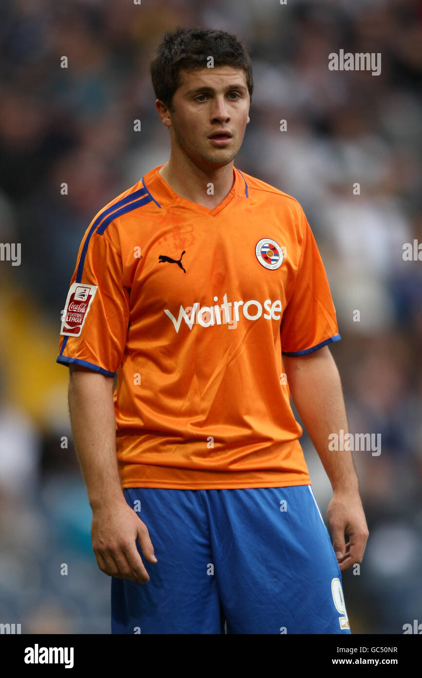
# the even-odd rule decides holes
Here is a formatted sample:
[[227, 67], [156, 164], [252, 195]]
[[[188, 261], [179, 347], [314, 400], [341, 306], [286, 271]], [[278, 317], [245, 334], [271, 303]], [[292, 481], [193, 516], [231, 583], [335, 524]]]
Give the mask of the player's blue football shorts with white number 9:
[[350, 633], [311, 485], [124, 492], [158, 562], [111, 578], [111, 633]]

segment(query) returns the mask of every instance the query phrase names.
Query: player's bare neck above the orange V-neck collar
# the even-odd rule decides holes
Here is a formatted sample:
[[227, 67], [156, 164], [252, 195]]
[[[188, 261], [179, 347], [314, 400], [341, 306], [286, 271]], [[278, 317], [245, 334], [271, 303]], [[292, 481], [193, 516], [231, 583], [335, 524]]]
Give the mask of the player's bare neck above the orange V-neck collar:
[[177, 195], [211, 210], [230, 193], [234, 183], [233, 161], [210, 169], [194, 165], [186, 155], [176, 158], [173, 151], [159, 174]]

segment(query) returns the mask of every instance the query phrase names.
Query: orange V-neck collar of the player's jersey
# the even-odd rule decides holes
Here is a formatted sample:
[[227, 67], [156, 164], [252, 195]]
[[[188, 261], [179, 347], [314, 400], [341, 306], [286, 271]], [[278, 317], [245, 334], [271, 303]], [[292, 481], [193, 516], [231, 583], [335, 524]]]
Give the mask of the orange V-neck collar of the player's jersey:
[[188, 207], [190, 210], [193, 210], [194, 212], [200, 212], [201, 214], [207, 216], [217, 216], [217, 214], [224, 210], [224, 207], [226, 207], [228, 203], [232, 201], [235, 195], [238, 195], [242, 198], [249, 197], [247, 182], [242, 173], [237, 169], [237, 167], [234, 167], [234, 165], [233, 186], [224, 200], [222, 200], [219, 205], [216, 205], [216, 207], [213, 207], [212, 210], [210, 210], [209, 207], [204, 207], [204, 205], [199, 205], [198, 203], [194, 203], [192, 200], [183, 198], [173, 191], [173, 188], [167, 184], [167, 181], [165, 181], [165, 179], [163, 179], [159, 173], [161, 167], [164, 167], [164, 164], [154, 167], [154, 169], [151, 169], [148, 174], [142, 177], [142, 184], [144, 188], [150, 195], [151, 199], [154, 200], [154, 203], [156, 203], [156, 205], [159, 207], [164, 207], [170, 203], [177, 202], [179, 204], [186, 205], [186, 207]]

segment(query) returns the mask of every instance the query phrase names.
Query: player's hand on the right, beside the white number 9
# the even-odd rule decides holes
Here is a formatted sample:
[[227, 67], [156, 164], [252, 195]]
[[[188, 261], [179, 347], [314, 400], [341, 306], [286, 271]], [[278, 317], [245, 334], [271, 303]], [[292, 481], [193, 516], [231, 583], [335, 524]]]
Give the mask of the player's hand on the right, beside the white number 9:
[[[340, 571], [348, 570], [354, 563], [362, 563], [369, 532], [359, 492], [334, 492], [326, 517]], [[350, 538], [347, 544], [345, 534]]]

